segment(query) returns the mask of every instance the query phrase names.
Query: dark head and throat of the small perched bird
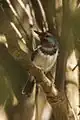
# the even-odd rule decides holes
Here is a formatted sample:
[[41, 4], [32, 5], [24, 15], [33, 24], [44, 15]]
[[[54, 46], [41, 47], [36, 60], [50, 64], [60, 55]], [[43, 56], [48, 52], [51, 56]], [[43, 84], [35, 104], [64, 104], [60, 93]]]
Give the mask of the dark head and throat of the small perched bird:
[[42, 52], [53, 55], [56, 53], [56, 51], [59, 51], [59, 44], [54, 35], [52, 35], [50, 32], [35, 32], [40, 38]]

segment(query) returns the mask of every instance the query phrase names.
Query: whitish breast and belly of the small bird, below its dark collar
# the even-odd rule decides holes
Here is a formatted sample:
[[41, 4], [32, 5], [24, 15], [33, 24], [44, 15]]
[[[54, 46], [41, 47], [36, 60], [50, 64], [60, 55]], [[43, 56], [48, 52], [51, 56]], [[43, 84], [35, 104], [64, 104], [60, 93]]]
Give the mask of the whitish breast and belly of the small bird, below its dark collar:
[[58, 56], [58, 51], [54, 55], [44, 55], [40, 49], [38, 50], [38, 54], [35, 56], [33, 64], [42, 69], [44, 72], [48, 72], [55, 64]]

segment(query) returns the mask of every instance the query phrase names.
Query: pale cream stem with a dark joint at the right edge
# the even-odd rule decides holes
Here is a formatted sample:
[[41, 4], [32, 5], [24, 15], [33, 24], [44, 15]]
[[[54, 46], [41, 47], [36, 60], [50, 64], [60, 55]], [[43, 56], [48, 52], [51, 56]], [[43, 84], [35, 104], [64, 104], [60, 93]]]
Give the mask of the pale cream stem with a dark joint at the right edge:
[[78, 119], [79, 113], [79, 69], [78, 67], [72, 71], [77, 64], [76, 50], [73, 50], [67, 60], [67, 71], [66, 71], [66, 93], [68, 100], [71, 104], [69, 106], [70, 117]]

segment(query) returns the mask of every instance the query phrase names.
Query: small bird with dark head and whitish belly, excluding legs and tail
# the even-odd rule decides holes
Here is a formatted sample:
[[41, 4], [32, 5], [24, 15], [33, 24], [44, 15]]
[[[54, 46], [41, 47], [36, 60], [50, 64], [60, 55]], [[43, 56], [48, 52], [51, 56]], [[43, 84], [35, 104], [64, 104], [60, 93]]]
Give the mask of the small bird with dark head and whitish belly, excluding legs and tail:
[[37, 68], [47, 73], [56, 63], [59, 53], [59, 42], [50, 32], [35, 32], [40, 38], [40, 44], [33, 51], [31, 60]]

